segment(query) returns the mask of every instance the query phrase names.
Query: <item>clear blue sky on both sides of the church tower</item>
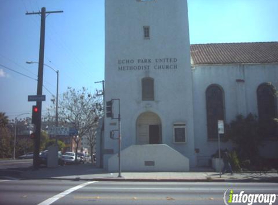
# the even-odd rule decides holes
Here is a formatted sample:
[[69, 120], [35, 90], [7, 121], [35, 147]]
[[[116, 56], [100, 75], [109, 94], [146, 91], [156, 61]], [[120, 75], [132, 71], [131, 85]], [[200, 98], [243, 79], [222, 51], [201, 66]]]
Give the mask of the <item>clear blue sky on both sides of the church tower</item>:
[[[278, 41], [278, 0], [187, 2], [191, 44]], [[25, 14], [42, 7], [64, 11], [46, 18], [44, 63], [59, 70], [59, 95], [68, 86], [102, 89], [95, 82], [104, 80], [104, 0], [0, 0], [0, 112], [9, 119], [31, 117], [35, 104], [27, 99], [36, 95], [38, 64], [26, 61], [38, 62], [40, 16]], [[44, 67], [43, 78], [42, 115], [57, 74]]]

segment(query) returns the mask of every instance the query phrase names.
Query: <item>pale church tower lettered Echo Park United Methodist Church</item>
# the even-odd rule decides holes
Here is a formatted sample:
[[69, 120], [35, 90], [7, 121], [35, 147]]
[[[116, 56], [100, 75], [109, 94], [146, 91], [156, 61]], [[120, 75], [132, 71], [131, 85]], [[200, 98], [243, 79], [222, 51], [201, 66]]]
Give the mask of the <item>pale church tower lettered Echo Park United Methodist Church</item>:
[[[186, 0], [105, 0], [105, 101], [120, 99], [122, 170], [196, 165]], [[114, 117], [118, 104], [114, 101]], [[117, 120], [105, 117], [103, 166], [117, 170]], [[115, 132], [117, 135], [117, 132]]]

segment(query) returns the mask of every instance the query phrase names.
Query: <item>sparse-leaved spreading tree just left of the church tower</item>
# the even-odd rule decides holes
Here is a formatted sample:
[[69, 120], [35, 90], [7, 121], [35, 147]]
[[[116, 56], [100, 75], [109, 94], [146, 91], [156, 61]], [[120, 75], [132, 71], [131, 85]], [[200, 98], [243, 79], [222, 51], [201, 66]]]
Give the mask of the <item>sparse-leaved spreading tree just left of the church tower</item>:
[[[87, 88], [82, 87], [81, 90], [75, 90], [67, 87], [63, 93], [58, 105], [58, 116], [60, 125], [70, 125], [70, 127], [78, 130], [78, 137], [75, 140], [77, 155], [78, 145], [83, 136], [89, 133], [89, 130], [98, 124], [98, 119], [102, 115], [101, 98], [97, 95], [97, 90], [92, 95]], [[55, 118], [55, 99], [51, 100], [53, 105], [48, 109], [48, 119]]]

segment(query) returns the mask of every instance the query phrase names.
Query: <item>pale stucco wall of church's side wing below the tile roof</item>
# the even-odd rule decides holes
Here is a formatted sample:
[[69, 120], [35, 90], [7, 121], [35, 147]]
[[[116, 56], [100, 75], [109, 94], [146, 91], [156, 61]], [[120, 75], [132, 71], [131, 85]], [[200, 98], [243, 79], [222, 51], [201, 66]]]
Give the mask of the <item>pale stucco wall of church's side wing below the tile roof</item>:
[[[193, 66], [193, 97], [195, 120], [195, 146], [200, 149], [197, 158], [211, 156], [218, 149], [217, 141], [207, 138], [206, 89], [209, 85], [220, 85], [224, 90], [225, 120], [235, 120], [238, 114], [258, 115], [257, 88], [271, 82], [278, 88], [278, 64], [204, 65]], [[236, 82], [237, 79], [244, 82]], [[231, 148], [230, 142], [222, 142], [221, 148]], [[262, 148], [264, 156], [278, 156], [278, 142], [268, 141]], [[207, 157], [208, 159], [208, 157]], [[204, 163], [204, 162], [201, 162]]]

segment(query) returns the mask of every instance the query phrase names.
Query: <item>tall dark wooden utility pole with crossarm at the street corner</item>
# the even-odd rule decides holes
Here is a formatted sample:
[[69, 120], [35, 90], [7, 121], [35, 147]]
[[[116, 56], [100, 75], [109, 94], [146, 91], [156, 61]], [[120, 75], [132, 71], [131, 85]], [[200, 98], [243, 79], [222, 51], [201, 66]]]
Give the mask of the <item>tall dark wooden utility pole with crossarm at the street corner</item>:
[[[41, 16], [41, 31], [40, 31], [40, 51], [39, 51], [39, 67], [38, 67], [38, 84], [37, 95], [42, 95], [43, 91], [43, 68], [44, 68], [44, 49], [45, 49], [45, 22], [46, 14], [62, 13], [63, 11], [49, 11], [42, 7], [41, 12], [26, 13], [26, 15], [38, 14]], [[35, 137], [34, 137], [34, 155], [33, 155], [33, 169], [39, 168], [39, 152], [40, 152], [40, 138], [41, 138], [41, 116], [42, 116], [42, 102], [37, 101], [38, 107], [38, 121], [35, 124]]]

